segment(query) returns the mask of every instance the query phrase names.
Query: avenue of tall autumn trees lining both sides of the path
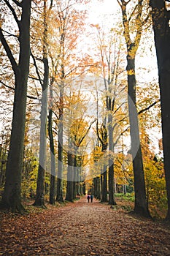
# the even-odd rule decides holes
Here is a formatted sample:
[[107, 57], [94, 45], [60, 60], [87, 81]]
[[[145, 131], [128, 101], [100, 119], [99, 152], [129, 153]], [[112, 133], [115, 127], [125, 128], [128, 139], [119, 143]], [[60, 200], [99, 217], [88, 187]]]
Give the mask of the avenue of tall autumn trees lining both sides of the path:
[[[117, 0], [112, 27], [90, 4], [1, 1], [0, 206], [129, 195], [134, 214], [169, 220], [169, 1]], [[147, 37], [158, 80], [139, 67]]]

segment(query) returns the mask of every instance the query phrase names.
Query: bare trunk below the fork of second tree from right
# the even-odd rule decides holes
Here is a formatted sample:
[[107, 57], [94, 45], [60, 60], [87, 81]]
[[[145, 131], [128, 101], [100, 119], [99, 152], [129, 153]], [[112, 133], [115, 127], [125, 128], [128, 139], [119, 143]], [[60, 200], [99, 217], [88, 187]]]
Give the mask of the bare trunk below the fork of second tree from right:
[[144, 217], [150, 217], [148, 210], [144, 169], [142, 161], [142, 151], [139, 138], [139, 124], [136, 111], [136, 78], [135, 78], [135, 59], [127, 56], [127, 72], [128, 72], [128, 113], [130, 123], [131, 135], [131, 154], [133, 158], [134, 167], [134, 191], [135, 191], [135, 205], [134, 213], [140, 214]]

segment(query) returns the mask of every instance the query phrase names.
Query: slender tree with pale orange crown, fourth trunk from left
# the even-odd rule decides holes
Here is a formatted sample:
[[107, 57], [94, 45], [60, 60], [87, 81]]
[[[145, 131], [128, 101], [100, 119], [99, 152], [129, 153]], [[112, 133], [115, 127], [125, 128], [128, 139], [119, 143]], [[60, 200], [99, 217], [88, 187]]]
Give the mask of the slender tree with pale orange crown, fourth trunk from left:
[[[53, 30], [51, 34], [50, 55], [55, 70], [55, 91], [58, 90], [58, 178], [56, 200], [63, 202], [63, 114], [66, 102], [64, 102], [66, 86], [75, 75], [80, 75], [84, 66], [77, 57], [77, 39], [82, 33], [84, 26], [85, 12], [78, 11], [76, 4], [81, 1], [57, 1], [56, 9], [53, 12]], [[53, 38], [55, 33], [55, 39]], [[85, 60], [87, 61], [87, 60]], [[76, 63], [76, 64], [75, 64]], [[80, 72], [81, 69], [81, 72]]]

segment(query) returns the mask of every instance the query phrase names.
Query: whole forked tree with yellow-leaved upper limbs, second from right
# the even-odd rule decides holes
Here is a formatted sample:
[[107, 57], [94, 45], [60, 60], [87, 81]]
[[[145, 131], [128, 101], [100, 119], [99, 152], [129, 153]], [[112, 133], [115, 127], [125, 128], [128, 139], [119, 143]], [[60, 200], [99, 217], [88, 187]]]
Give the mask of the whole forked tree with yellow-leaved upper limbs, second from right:
[[[134, 190], [135, 205], [134, 213], [144, 217], [150, 217], [148, 210], [146, 190], [144, 184], [144, 168], [142, 162], [142, 150], [139, 138], [139, 122], [136, 112], [136, 75], [135, 75], [135, 57], [139, 48], [139, 42], [142, 37], [142, 26], [144, 20], [142, 18], [143, 0], [138, 0], [134, 9], [128, 18], [127, 5], [132, 1], [117, 0], [120, 4], [123, 17], [124, 37], [127, 48], [127, 75], [128, 75], [128, 113], [130, 122], [131, 135], [131, 154], [134, 167]], [[147, 19], [147, 18], [146, 18]], [[131, 30], [131, 23], [134, 23], [135, 29]], [[131, 37], [134, 39], [132, 40]]]

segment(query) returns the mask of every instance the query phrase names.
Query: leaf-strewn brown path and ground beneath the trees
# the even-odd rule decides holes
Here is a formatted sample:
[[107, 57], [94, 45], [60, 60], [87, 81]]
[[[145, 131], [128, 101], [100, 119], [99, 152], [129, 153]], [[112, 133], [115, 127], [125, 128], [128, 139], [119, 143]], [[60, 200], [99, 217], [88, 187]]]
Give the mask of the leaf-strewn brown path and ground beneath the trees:
[[168, 225], [127, 213], [86, 197], [24, 216], [0, 212], [0, 255], [170, 255]]

